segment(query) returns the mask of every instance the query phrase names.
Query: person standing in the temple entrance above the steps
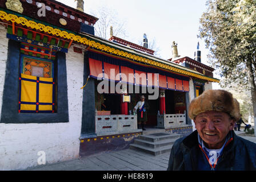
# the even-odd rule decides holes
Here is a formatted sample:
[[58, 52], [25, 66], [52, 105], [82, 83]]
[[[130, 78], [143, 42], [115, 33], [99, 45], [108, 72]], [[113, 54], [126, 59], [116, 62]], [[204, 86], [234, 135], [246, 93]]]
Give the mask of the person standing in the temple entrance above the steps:
[[145, 96], [141, 96], [141, 101], [138, 101], [134, 106], [134, 111], [137, 111], [138, 115], [138, 129], [146, 130], [145, 124], [147, 122], [147, 104], [145, 102]]

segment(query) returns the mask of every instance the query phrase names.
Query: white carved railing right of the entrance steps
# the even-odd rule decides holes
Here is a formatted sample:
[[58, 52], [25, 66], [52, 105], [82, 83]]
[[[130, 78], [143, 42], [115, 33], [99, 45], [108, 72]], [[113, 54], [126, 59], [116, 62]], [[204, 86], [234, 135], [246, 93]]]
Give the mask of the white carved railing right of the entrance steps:
[[170, 129], [186, 126], [186, 114], [158, 114], [157, 127]]

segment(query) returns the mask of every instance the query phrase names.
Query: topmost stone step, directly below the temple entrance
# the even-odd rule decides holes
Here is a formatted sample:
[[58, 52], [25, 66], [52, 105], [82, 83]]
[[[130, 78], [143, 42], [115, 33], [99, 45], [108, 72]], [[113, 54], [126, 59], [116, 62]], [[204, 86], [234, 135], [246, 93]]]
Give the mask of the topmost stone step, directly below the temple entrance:
[[179, 138], [179, 134], [155, 133], [150, 135], [140, 135], [139, 139], [147, 140], [149, 142], [157, 142], [160, 140]]

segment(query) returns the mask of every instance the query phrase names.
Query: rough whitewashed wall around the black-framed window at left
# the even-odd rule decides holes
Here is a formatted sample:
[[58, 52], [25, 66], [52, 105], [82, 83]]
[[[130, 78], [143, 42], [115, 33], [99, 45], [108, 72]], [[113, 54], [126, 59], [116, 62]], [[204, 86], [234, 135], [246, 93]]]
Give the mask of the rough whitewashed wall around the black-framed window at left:
[[[7, 59], [6, 30], [0, 26], [0, 109]], [[79, 157], [82, 123], [83, 54], [66, 54], [68, 123], [0, 123], [0, 170], [37, 166], [38, 151], [45, 151], [46, 163]]]

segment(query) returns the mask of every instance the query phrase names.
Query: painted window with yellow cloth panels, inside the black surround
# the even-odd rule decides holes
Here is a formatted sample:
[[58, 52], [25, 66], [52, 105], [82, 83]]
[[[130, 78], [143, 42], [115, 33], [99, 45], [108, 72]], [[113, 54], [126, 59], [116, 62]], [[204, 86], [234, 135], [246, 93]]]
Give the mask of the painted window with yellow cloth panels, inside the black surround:
[[[28, 48], [27, 48], [28, 49]], [[46, 49], [37, 52], [46, 52]], [[21, 51], [19, 74], [19, 113], [55, 113], [55, 56]], [[47, 52], [48, 53], [48, 52]]]

